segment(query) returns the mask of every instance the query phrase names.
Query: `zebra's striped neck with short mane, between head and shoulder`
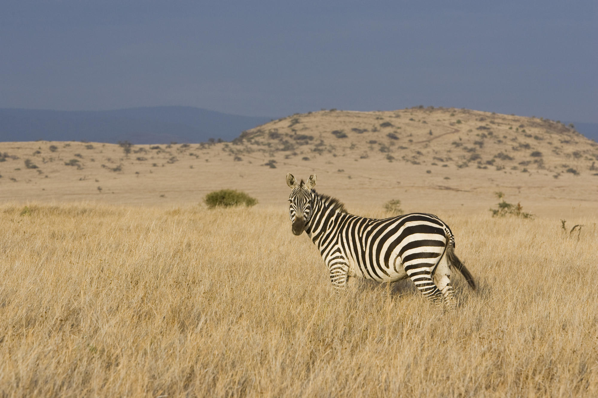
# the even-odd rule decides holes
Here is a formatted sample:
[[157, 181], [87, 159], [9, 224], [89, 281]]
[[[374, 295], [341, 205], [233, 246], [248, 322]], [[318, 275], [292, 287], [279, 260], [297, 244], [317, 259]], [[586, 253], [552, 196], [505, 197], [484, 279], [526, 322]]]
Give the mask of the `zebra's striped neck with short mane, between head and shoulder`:
[[328, 195], [318, 194], [312, 190], [312, 216], [307, 223], [306, 232], [316, 246], [324, 237], [325, 232], [337, 225], [339, 219], [347, 216], [344, 204]]

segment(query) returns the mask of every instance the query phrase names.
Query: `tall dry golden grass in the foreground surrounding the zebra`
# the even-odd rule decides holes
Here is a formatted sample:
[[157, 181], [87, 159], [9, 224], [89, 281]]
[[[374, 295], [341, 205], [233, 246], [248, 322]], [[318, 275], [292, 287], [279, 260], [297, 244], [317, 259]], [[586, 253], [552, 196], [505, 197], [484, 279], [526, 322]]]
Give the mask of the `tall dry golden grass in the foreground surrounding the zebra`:
[[449, 312], [337, 297], [282, 209], [2, 205], [0, 393], [597, 396], [596, 219], [443, 218], [480, 286]]

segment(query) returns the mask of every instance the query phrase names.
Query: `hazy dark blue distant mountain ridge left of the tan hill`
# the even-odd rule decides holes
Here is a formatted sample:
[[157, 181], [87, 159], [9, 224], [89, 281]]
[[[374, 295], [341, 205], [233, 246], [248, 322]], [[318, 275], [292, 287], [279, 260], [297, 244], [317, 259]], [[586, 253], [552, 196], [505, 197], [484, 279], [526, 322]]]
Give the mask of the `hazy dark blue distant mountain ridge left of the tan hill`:
[[93, 141], [135, 144], [232, 140], [269, 122], [191, 106], [156, 106], [114, 111], [45, 111], [0, 108], [0, 141]]

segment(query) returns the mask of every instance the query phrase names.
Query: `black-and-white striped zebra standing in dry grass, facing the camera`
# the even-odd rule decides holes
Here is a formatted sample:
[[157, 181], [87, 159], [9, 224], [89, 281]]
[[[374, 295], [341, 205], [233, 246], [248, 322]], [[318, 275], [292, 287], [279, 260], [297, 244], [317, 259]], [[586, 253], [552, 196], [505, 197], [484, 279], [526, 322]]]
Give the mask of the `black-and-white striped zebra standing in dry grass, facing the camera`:
[[469, 286], [475, 282], [454, 254], [454, 236], [448, 225], [428, 213], [410, 213], [385, 219], [349, 214], [338, 199], [313, 189], [316, 175], [307, 183], [286, 174], [292, 233], [307, 233], [329, 270], [332, 286], [343, 290], [350, 277], [379, 282], [411, 278], [434, 304], [456, 307], [450, 283], [451, 266]]

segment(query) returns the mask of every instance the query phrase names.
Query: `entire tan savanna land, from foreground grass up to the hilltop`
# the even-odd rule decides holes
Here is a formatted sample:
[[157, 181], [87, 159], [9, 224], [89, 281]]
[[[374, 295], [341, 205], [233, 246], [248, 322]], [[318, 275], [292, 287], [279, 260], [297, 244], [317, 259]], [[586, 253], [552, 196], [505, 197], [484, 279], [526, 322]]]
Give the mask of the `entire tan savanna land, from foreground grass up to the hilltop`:
[[[598, 396], [597, 163], [572, 126], [454, 108], [0, 142], [0, 396]], [[288, 172], [358, 215], [440, 216], [478, 290], [335, 295]], [[259, 203], [209, 210], [224, 188]], [[496, 192], [533, 218], [493, 218]]]

